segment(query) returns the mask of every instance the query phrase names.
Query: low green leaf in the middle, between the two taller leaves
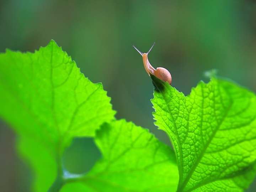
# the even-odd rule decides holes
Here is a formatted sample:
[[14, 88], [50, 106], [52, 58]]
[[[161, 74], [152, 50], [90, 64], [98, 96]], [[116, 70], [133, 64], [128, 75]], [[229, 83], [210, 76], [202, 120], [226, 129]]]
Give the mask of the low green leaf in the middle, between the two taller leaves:
[[103, 124], [96, 144], [102, 152], [92, 170], [69, 191], [176, 191], [178, 170], [174, 151], [147, 129], [125, 120]]

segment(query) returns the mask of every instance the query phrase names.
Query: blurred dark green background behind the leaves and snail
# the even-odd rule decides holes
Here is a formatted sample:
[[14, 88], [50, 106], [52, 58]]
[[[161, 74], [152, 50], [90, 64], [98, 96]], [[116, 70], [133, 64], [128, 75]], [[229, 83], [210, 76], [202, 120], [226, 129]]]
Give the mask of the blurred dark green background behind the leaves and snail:
[[[0, 0], [0, 52], [34, 52], [50, 39], [92, 82], [102, 82], [117, 119], [149, 128], [169, 145], [153, 124], [153, 85], [133, 44], [147, 52], [156, 42], [150, 63], [168, 69], [172, 86], [185, 95], [208, 81], [203, 72], [209, 69], [256, 91], [255, 0]], [[16, 139], [1, 121], [0, 191], [29, 191], [33, 181], [15, 152]], [[92, 139], [78, 138], [64, 161], [80, 173], [99, 158]]]

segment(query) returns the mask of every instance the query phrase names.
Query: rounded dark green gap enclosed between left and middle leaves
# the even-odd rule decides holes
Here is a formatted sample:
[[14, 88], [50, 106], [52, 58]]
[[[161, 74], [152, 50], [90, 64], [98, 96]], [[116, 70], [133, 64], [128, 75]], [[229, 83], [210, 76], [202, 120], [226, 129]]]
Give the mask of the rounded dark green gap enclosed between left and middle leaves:
[[101, 158], [100, 150], [93, 138], [74, 138], [63, 157], [65, 169], [72, 174], [83, 174], [91, 170]]

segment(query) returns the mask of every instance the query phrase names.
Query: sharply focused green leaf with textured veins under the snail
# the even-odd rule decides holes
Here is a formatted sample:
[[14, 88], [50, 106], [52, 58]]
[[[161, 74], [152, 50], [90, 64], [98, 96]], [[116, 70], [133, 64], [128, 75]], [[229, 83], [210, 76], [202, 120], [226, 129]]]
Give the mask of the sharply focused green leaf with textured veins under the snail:
[[256, 172], [256, 97], [233, 82], [199, 82], [184, 96], [151, 76], [155, 124], [171, 138], [179, 192], [244, 191]]

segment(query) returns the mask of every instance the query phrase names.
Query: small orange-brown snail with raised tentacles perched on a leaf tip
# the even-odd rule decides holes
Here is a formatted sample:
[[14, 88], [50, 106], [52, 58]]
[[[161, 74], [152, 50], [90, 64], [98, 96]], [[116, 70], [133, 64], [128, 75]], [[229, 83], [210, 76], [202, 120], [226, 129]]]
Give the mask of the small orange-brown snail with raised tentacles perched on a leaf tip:
[[[155, 42], [154, 42], [155, 44]], [[153, 46], [154, 46], [153, 44]], [[165, 69], [165, 68], [162, 68], [162, 67], [158, 67], [158, 68], [154, 68], [150, 63], [149, 63], [149, 60], [148, 60], [148, 54], [149, 52], [151, 51], [151, 49], [153, 48], [153, 46], [149, 49], [148, 52], [146, 53], [142, 53], [139, 51], [139, 49], [137, 49], [134, 45], [133, 47], [142, 55], [142, 59], [143, 59], [143, 64], [144, 64], [144, 67], [145, 67], [145, 70], [146, 72], [149, 74], [150, 76], [150, 73], [152, 75], [155, 75], [158, 79], [161, 79], [162, 81], [164, 82], [169, 82], [169, 84], [171, 85], [171, 74], [170, 72]]]

